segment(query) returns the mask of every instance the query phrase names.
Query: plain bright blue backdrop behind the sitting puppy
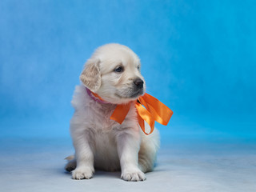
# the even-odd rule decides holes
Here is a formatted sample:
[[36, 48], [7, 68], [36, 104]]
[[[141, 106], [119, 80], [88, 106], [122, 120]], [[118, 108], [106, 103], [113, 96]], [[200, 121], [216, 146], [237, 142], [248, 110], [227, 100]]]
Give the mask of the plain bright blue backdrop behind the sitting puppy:
[[68, 136], [84, 62], [118, 42], [141, 58], [147, 92], [174, 110], [159, 126], [164, 139], [254, 139], [255, 8], [254, 0], [2, 0], [0, 134]]

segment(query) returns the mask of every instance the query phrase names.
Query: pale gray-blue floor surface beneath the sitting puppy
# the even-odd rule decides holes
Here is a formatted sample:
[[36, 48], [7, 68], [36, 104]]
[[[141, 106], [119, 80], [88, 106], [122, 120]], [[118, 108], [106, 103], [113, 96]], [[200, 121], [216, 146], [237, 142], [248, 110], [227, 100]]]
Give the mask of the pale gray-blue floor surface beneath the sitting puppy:
[[145, 182], [97, 170], [76, 181], [63, 170], [69, 139], [0, 139], [0, 191], [256, 191], [255, 142], [170, 142]]

